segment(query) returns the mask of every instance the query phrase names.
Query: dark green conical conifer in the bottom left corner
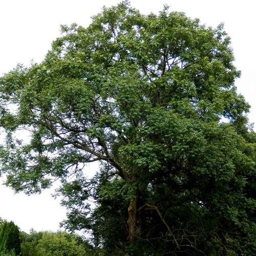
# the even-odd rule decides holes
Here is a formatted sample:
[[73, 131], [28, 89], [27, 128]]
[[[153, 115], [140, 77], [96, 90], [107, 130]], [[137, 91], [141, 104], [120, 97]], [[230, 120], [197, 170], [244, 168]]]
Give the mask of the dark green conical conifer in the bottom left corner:
[[6, 221], [0, 229], [0, 252], [20, 254], [19, 229], [12, 221]]

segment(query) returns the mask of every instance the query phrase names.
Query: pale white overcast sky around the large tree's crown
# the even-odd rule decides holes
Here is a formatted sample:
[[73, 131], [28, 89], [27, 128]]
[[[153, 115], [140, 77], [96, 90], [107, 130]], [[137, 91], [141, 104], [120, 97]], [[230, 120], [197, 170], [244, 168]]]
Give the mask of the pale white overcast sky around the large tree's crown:
[[[13, 69], [17, 63], [30, 65], [31, 59], [40, 62], [58, 37], [59, 25], [77, 23], [87, 27], [90, 17], [101, 11], [103, 5], [119, 3], [116, 0], [0, 0], [0, 75]], [[237, 80], [238, 92], [251, 105], [248, 115], [256, 124], [256, 1], [254, 0], [131, 0], [133, 7], [150, 13], [170, 6], [172, 11], [183, 11], [187, 16], [200, 18], [207, 26], [221, 22], [232, 40], [235, 65], [242, 71]], [[254, 129], [255, 130], [255, 129]], [[2, 143], [0, 141], [0, 143]], [[88, 172], [92, 172], [92, 168]], [[13, 220], [23, 231], [57, 230], [65, 218], [65, 208], [51, 197], [53, 190], [30, 197], [14, 195], [0, 186], [0, 217]]]

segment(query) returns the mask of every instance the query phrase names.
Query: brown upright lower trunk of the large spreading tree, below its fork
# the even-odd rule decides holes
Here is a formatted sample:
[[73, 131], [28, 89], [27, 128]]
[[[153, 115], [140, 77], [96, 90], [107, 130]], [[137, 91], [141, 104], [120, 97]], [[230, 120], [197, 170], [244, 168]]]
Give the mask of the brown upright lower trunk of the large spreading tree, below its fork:
[[130, 201], [128, 207], [129, 218], [127, 224], [129, 227], [129, 235], [127, 241], [130, 245], [134, 245], [139, 237], [141, 231], [141, 212], [138, 211], [139, 205], [139, 196]]

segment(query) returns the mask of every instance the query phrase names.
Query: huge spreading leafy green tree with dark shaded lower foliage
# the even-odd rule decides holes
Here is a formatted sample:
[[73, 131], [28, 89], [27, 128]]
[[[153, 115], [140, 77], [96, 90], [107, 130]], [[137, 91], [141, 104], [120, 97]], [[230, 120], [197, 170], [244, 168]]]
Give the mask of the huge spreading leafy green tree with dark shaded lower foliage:
[[256, 137], [233, 60], [222, 25], [167, 7], [62, 26], [41, 63], [0, 80], [7, 185], [61, 180], [62, 224], [105, 254], [254, 255]]

